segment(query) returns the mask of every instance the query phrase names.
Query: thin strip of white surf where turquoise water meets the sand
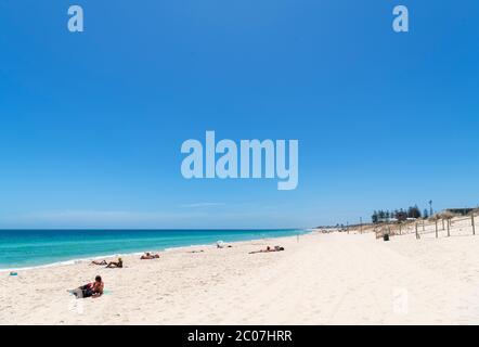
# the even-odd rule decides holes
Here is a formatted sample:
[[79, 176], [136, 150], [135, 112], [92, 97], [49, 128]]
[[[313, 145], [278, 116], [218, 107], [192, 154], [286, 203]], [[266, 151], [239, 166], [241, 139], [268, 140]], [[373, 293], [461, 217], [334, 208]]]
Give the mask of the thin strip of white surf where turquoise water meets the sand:
[[[258, 229], [261, 230], [261, 229]], [[276, 229], [272, 229], [276, 230]], [[297, 231], [302, 232], [300, 235], [307, 235], [312, 232], [314, 232], [316, 229], [306, 228], [306, 229], [298, 229]], [[241, 241], [231, 241], [225, 242], [228, 244], [235, 244], [235, 243], [242, 243], [242, 242], [259, 242], [264, 240], [273, 240], [273, 239], [282, 239], [282, 237], [296, 237], [296, 235], [281, 235], [281, 236], [272, 236], [272, 237], [264, 237], [264, 239], [250, 239], [250, 240], [241, 240]], [[132, 256], [141, 256], [146, 252], [151, 253], [168, 253], [168, 252], [177, 252], [177, 250], [187, 250], [189, 248], [194, 247], [212, 247], [216, 248], [216, 243], [213, 244], [192, 244], [189, 246], [178, 246], [178, 247], [166, 247], [163, 249], [155, 249], [154, 247], [147, 250], [138, 250], [138, 252], [127, 252], [127, 253], [116, 253], [116, 254], [109, 254], [109, 255], [100, 255], [100, 256], [86, 256], [81, 258], [73, 258], [67, 260], [60, 260], [49, 264], [41, 264], [41, 265], [34, 265], [34, 266], [26, 266], [26, 267], [12, 267], [12, 268], [4, 268], [0, 269], [0, 274], [5, 272], [12, 272], [12, 271], [30, 271], [36, 269], [46, 269], [46, 268], [55, 268], [55, 267], [64, 267], [64, 266], [72, 266], [76, 264], [85, 264], [85, 262], [91, 262], [93, 260], [98, 259], [108, 259], [108, 258], [125, 258], [125, 257], [132, 257]]]

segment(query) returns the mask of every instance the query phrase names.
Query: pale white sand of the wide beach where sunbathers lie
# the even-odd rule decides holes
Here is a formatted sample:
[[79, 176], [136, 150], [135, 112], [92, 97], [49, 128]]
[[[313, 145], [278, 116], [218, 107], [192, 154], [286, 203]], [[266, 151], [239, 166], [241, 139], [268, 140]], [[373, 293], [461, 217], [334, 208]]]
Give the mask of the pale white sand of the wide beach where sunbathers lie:
[[[467, 226], [465, 226], [467, 231]], [[249, 255], [264, 245], [286, 250]], [[479, 323], [479, 236], [332, 233], [0, 273], [1, 324]], [[101, 274], [109, 294], [66, 290]]]

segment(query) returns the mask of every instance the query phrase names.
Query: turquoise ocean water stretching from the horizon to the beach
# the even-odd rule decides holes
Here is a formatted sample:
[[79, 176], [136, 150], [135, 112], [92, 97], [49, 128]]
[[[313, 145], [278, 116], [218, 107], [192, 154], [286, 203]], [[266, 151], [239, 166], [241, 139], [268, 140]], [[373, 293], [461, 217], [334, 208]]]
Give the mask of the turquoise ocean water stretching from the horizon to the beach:
[[0, 270], [173, 247], [297, 235], [307, 230], [0, 230]]

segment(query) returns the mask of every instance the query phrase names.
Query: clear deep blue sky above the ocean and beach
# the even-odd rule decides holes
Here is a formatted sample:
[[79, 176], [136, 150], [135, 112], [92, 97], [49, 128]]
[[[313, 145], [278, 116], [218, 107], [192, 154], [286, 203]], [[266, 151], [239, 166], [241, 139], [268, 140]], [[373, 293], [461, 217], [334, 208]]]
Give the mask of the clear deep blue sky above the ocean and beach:
[[[85, 10], [85, 33], [66, 29]], [[409, 34], [391, 29], [406, 4]], [[479, 204], [479, 2], [0, 1], [0, 228], [276, 228]], [[298, 139], [299, 185], [181, 143]]]

